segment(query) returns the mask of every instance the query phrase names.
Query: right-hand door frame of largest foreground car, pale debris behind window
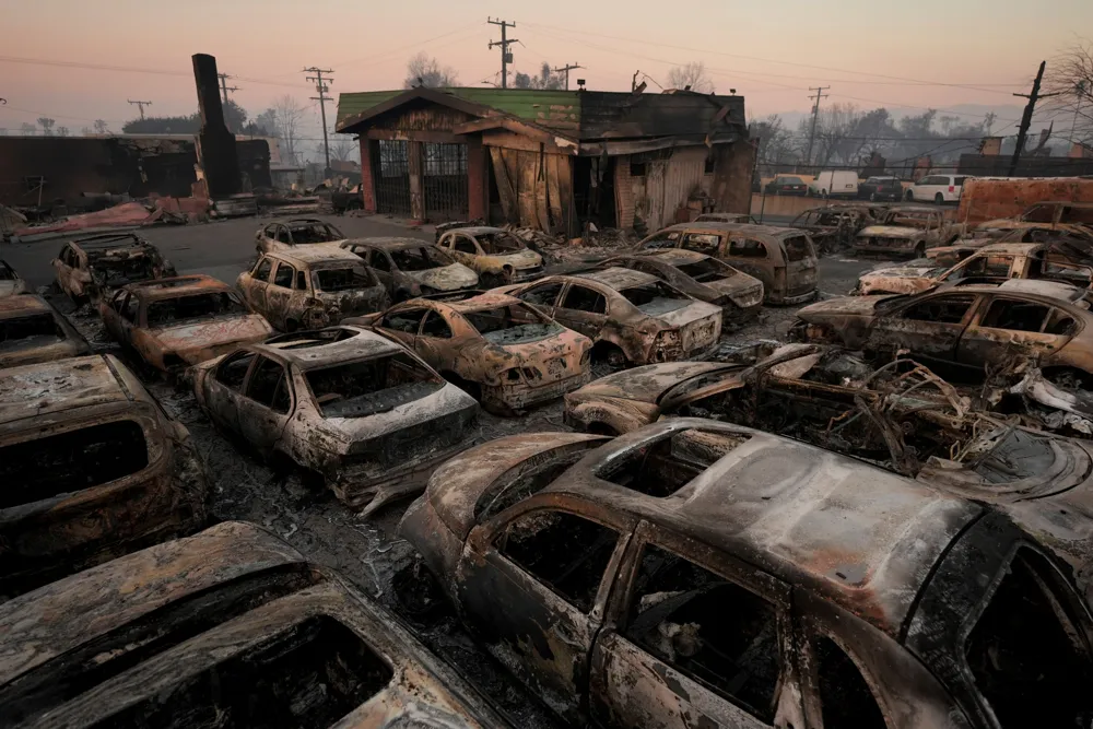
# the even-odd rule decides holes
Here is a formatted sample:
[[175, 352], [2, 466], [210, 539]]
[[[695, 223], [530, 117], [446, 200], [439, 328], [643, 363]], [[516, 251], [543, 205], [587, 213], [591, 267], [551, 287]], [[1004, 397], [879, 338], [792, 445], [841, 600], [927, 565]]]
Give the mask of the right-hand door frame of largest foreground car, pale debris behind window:
[[[635, 580], [646, 545], [654, 545], [675, 554], [737, 587], [759, 596], [774, 607], [781, 671], [776, 687], [773, 724], [766, 724], [718, 690], [686, 675], [680, 669], [653, 656], [642, 646], [625, 637], [623, 626], [627, 619]], [[590, 714], [603, 721], [604, 726], [610, 726], [608, 720], [611, 717], [609, 694], [611, 689], [607, 678], [610, 658], [613, 656], [621, 661], [626, 661], [627, 658], [639, 659], [644, 657], [648, 668], [644, 672], [637, 668], [627, 678], [636, 681], [644, 673], [645, 679], [658, 684], [650, 703], [660, 704], [667, 708], [669, 704], [666, 697], [671, 696], [678, 702], [679, 724], [672, 725], [666, 720], [657, 726], [662, 726], [666, 729], [683, 729], [692, 726], [691, 721], [695, 721], [696, 717], [706, 717], [714, 719], [710, 726], [729, 726], [740, 729], [760, 729], [772, 726], [806, 727], [804, 706], [800, 691], [801, 667], [797, 649], [799, 637], [800, 633], [794, 621], [792, 587], [790, 585], [759, 567], [749, 565], [742, 560], [703, 544], [693, 538], [684, 537], [648, 520], [642, 520], [626, 545], [626, 551], [615, 575], [602, 626], [592, 646], [588, 691]], [[703, 699], [700, 705], [692, 703], [696, 695]], [[748, 719], [750, 722], [747, 725], [740, 722], [740, 716], [708, 717], [703, 712], [703, 706], [708, 708], [710, 702], [719, 702], [725, 705], [727, 714], [743, 714], [743, 719]], [[720, 718], [726, 718], [730, 722], [719, 724], [717, 719]], [[736, 722], [731, 722], [733, 718]]]

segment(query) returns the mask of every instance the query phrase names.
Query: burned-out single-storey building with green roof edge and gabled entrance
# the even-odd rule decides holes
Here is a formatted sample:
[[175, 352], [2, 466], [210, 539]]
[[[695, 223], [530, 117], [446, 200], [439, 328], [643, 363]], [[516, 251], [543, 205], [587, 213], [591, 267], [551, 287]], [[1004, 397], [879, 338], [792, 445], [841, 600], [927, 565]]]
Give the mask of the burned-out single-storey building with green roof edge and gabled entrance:
[[748, 212], [744, 99], [665, 94], [411, 89], [342, 94], [337, 130], [361, 140], [364, 209], [431, 222], [484, 219], [575, 236], [657, 228], [695, 196]]

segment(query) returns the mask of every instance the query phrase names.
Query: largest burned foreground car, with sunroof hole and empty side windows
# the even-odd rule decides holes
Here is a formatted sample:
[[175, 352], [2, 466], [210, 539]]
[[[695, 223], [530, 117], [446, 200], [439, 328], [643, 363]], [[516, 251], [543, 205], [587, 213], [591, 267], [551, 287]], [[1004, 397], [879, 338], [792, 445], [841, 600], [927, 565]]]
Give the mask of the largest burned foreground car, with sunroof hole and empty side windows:
[[[1088, 517], [1086, 517], [1088, 521]], [[997, 728], [1093, 714], [1093, 622], [1004, 509], [671, 419], [445, 463], [399, 529], [485, 646], [602, 726]]]

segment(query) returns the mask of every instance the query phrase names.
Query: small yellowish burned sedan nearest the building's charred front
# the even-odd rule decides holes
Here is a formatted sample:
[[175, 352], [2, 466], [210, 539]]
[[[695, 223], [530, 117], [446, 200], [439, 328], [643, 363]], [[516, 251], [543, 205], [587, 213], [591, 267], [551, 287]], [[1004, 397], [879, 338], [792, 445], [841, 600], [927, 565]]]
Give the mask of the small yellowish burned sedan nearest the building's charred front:
[[437, 233], [436, 245], [478, 273], [484, 289], [531, 281], [543, 274], [542, 256], [508, 231], [469, 225]]

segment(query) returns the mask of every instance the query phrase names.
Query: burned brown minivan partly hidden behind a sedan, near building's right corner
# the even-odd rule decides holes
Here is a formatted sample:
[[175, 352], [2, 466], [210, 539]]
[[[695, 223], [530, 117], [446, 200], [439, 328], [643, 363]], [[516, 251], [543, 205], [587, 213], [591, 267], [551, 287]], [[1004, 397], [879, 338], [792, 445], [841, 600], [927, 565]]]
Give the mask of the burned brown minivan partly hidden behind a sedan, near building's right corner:
[[803, 231], [739, 223], [681, 223], [643, 239], [634, 251], [685, 248], [713, 256], [763, 282], [767, 304], [802, 304], [816, 295], [816, 257]]

